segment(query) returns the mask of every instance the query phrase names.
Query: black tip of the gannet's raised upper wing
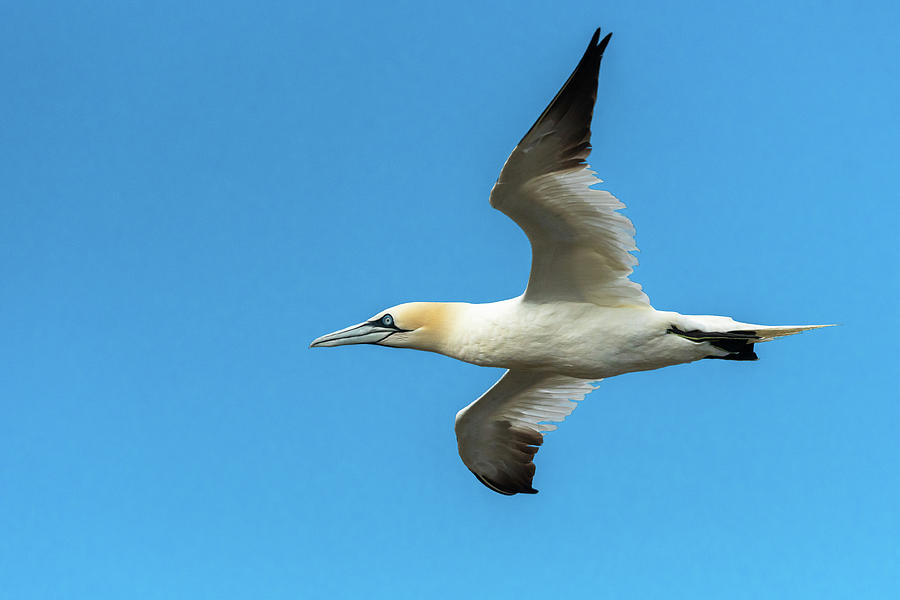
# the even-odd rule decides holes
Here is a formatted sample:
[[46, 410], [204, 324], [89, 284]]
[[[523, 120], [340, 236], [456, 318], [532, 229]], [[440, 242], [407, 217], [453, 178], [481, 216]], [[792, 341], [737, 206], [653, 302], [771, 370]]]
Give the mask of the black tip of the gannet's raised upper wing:
[[[597, 101], [600, 61], [612, 38], [612, 33], [608, 33], [601, 40], [600, 31], [598, 27], [565, 85], [519, 142], [520, 145], [524, 143], [528, 146], [544, 142], [546, 136], [552, 134], [552, 143], [558, 146], [557, 157], [553, 164], [547, 165], [546, 170], [542, 169], [543, 173], [587, 165], [586, 159], [591, 153], [591, 118]], [[532, 134], [537, 134], [537, 139], [529, 140]]]

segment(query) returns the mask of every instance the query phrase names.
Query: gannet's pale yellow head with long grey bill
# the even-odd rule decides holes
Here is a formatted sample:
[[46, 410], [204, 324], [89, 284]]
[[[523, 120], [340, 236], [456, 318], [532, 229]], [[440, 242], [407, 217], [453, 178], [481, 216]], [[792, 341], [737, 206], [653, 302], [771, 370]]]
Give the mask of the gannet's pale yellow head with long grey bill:
[[442, 352], [458, 306], [445, 302], [398, 304], [362, 323], [316, 338], [309, 347], [378, 344]]

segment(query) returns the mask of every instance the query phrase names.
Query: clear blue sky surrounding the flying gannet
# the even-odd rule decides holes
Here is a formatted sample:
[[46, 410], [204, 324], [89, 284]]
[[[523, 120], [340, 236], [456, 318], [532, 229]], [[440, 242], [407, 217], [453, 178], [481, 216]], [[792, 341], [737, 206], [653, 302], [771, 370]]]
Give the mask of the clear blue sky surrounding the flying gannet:
[[[896, 3], [0, 8], [7, 598], [896, 598]], [[499, 372], [314, 337], [527, 277], [488, 192], [596, 26], [654, 306], [841, 323], [605, 381], [502, 497]]]

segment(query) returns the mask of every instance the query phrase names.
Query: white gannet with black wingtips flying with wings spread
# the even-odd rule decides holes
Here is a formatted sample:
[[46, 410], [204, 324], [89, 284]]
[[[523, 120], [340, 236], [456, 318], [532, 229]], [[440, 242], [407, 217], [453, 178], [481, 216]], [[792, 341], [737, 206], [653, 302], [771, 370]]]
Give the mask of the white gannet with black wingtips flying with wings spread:
[[[488, 304], [410, 302], [310, 347], [376, 344], [507, 371], [456, 415], [459, 456], [505, 495], [534, 494], [544, 434], [606, 377], [700, 359], [757, 360], [754, 344], [827, 325], [764, 326], [650, 306], [629, 279], [634, 226], [586, 159], [603, 51], [594, 33], [575, 71], [503, 165], [491, 206], [531, 242], [525, 292]], [[599, 40], [599, 42], [598, 42]]]

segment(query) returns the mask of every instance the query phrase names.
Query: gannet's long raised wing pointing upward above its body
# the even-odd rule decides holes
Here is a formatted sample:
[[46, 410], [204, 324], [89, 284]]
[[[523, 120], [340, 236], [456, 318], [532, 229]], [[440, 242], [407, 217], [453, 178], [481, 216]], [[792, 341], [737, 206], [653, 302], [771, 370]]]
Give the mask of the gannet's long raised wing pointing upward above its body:
[[[610, 34], [612, 35], [612, 34]], [[591, 116], [607, 35], [594, 33], [581, 62], [550, 106], [503, 165], [491, 206], [515, 221], [531, 241], [526, 301], [567, 300], [601, 306], [649, 306], [628, 279], [634, 225], [618, 209], [585, 159], [591, 152]]]

